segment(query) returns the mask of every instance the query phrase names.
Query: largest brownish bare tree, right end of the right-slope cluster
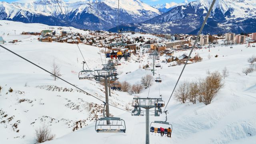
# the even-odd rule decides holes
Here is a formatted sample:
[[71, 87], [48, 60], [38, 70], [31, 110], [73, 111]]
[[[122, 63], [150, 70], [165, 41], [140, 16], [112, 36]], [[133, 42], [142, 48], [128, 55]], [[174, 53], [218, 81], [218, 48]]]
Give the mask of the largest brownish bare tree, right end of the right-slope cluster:
[[207, 76], [203, 84], [203, 102], [205, 105], [211, 103], [212, 99], [217, 95], [219, 90], [224, 86], [222, 84], [222, 76], [218, 71], [215, 71]]

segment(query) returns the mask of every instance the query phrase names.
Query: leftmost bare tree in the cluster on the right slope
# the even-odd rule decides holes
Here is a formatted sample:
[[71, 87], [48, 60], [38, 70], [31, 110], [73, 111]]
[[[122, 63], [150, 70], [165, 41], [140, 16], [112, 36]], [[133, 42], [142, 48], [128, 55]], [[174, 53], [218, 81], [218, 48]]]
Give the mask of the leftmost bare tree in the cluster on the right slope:
[[184, 104], [189, 96], [189, 82], [182, 82], [174, 95], [178, 102]]

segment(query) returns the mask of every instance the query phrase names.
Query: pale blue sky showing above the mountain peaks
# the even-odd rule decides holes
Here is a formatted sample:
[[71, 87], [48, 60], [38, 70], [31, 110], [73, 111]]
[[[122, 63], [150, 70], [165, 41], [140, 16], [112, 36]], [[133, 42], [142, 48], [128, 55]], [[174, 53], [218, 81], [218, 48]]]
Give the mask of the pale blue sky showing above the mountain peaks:
[[[33, 2], [34, 0], [0, 0], [4, 2], [21, 2], [21, 3], [26, 3], [26, 2]], [[69, 1], [69, 2], [74, 2], [74, 1], [84, 1], [84, 0], [64, 0], [64, 1]], [[156, 5], [156, 4], [165, 4], [165, 3], [170, 3], [170, 2], [184, 2], [184, 0], [141, 0], [142, 2], [149, 4], [150, 6]], [[192, 0], [189, 0], [192, 1]]]

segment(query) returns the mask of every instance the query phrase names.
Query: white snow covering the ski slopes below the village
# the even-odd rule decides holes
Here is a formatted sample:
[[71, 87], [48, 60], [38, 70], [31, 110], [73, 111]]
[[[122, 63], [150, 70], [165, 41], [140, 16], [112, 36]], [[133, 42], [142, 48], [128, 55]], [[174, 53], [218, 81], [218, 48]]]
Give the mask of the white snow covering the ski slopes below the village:
[[[40, 28], [47, 28], [46, 25], [41, 24], [22, 24], [2, 20], [0, 24], [5, 26], [4, 29], [1, 28], [1, 34], [11, 32], [14, 28], [17, 31], [38, 31]], [[17, 25], [20, 27], [17, 28]], [[72, 30], [75, 31], [76, 29]], [[10, 39], [12, 39], [11, 36]], [[78, 80], [77, 72], [82, 70], [81, 62], [83, 59], [76, 44], [47, 43], [24, 38], [22, 42], [6, 43], [4, 46], [50, 71], [52, 62], [55, 60], [60, 66], [61, 78], [104, 100], [105, 94], [102, 85], [94, 80]], [[98, 48], [82, 44], [79, 46], [90, 69], [100, 69], [102, 62]], [[188, 54], [189, 51], [176, 51], [174, 56], [179, 57], [184, 53]], [[253, 144], [256, 140], [256, 72], [246, 76], [241, 71], [242, 68], [247, 68], [250, 65], [247, 58], [255, 53], [255, 48], [246, 48], [245, 45], [234, 45], [232, 49], [216, 46], [210, 48], [210, 52], [208, 49], [194, 50], [192, 57], [195, 54], [200, 54], [203, 61], [188, 64], [180, 82], [204, 78], [207, 75], [206, 70], [221, 72], [225, 66], [230, 76], [225, 78], [224, 88], [207, 106], [198, 102], [196, 104], [190, 102], [180, 104], [176, 102], [173, 96], [166, 108], [169, 112], [168, 122], [173, 126], [172, 138], [160, 137], [158, 134], [155, 136], [150, 133], [150, 143]], [[208, 59], [209, 54], [212, 55], [210, 60]], [[216, 54], [219, 55], [217, 58], [214, 57]], [[139, 68], [140, 65], [145, 64], [152, 67], [152, 60], [148, 61], [148, 55], [145, 55], [141, 59], [143, 60], [142, 63], [135, 62], [136, 56], [132, 56], [133, 60], [130, 62], [121, 61], [122, 65], [118, 66], [118, 71], [123, 72], [119, 76], [120, 82], [127, 80], [136, 84], [142, 76], [150, 74], [150, 71]], [[156, 63], [159, 62], [162, 68], [156, 68], [157, 74], [154, 76], [156, 78], [160, 74], [163, 81], [154, 83], [150, 88], [142, 90], [140, 97], [158, 98], [160, 93], [167, 103], [184, 65], [168, 67], [168, 63], [161, 63], [164, 59], [165, 56], [160, 56], [160, 60], [156, 60]], [[56, 134], [56, 138], [45, 142], [46, 144], [145, 143], [145, 117], [134, 117], [128, 112], [110, 107], [111, 114], [125, 120], [126, 133], [96, 133], [94, 120], [86, 120], [86, 118], [92, 118], [90, 117], [92, 111], [88, 110], [88, 103], [98, 104], [99, 109], [102, 109], [102, 102], [82, 92], [75, 91], [72, 86], [61, 80], [54, 81], [48, 73], [2, 48], [0, 48], [0, 68], [0, 85], [3, 87], [0, 92], [0, 110], [8, 114], [6, 117], [0, 116], [0, 121], [13, 116], [10, 122], [0, 123], [1, 143], [35, 143], [34, 130], [43, 124], [48, 125], [52, 133]], [[126, 72], [130, 73], [126, 74]], [[26, 83], [27, 86], [24, 86]], [[73, 88], [73, 91], [59, 92], [50, 86], [68, 88], [69, 90]], [[14, 92], [8, 92], [10, 87], [13, 88]], [[112, 97], [109, 97], [110, 103], [125, 109], [125, 105], [131, 102], [135, 95], [138, 96], [138, 94], [131, 96], [126, 92], [113, 92]], [[19, 103], [19, 100], [23, 98], [28, 101]], [[100, 112], [96, 114], [102, 116]], [[160, 117], [150, 116], [150, 122], [164, 119], [164, 114]], [[84, 127], [83, 125], [83, 128], [72, 132], [74, 122], [78, 120], [86, 120], [85, 125], [88, 124], [88, 126]], [[13, 129], [14, 123], [18, 123], [17, 129]]]

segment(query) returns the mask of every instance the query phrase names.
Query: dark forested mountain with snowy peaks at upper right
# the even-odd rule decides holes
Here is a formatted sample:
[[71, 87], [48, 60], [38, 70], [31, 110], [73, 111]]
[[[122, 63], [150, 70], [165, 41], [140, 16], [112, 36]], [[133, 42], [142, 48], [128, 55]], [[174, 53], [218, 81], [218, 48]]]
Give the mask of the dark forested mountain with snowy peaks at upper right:
[[[197, 0], [176, 6], [164, 14], [132, 27], [144, 32], [196, 34], [211, 2], [212, 0]], [[255, 32], [255, 22], [255, 0], [216, 0], [203, 33]]]

